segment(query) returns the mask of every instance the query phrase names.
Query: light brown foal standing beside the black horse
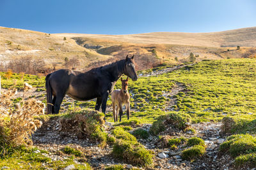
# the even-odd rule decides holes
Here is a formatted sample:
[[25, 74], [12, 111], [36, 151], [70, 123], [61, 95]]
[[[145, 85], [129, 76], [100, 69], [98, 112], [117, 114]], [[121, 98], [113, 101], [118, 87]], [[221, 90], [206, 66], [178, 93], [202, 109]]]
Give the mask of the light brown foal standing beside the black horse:
[[123, 80], [121, 78], [122, 81], [122, 90], [114, 90], [111, 94], [111, 99], [112, 99], [112, 105], [113, 105], [113, 117], [115, 122], [117, 122], [117, 115], [118, 115], [118, 111], [119, 111], [119, 116], [120, 116], [120, 122], [121, 122], [121, 118], [123, 115], [123, 110], [122, 110], [122, 106], [125, 104], [125, 108], [126, 108], [126, 112], [127, 112], [127, 119], [129, 120], [129, 116], [130, 116], [130, 95], [128, 92], [128, 77], [126, 80]]

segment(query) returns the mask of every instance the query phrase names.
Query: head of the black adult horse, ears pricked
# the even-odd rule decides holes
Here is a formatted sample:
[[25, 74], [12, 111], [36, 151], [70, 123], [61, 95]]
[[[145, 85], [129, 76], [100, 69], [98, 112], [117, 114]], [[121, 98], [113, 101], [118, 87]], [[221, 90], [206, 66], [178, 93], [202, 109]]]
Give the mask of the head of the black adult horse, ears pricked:
[[128, 55], [125, 58], [125, 75], [129, 76], [129, 78], [132, 79], [132, 81], [138, 80], [137, 73], [135, 71], [135, 65], [133, 61], [134, 55], [129, 58]]

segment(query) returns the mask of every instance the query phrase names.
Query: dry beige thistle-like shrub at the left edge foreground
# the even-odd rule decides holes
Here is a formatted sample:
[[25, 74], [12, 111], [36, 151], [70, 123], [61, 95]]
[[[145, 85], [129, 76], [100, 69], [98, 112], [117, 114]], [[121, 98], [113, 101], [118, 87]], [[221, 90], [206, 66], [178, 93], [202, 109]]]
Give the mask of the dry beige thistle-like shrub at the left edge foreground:
[[42, 125], [34, 117], [44, 114], [45, 104], [31, 98], [14, 105], [12, 97], [15, 94], [17, 90], [11, 89], [0, 97], [0, 142], [7, 145], [31, 145], [33, 143], [29, 137]]

